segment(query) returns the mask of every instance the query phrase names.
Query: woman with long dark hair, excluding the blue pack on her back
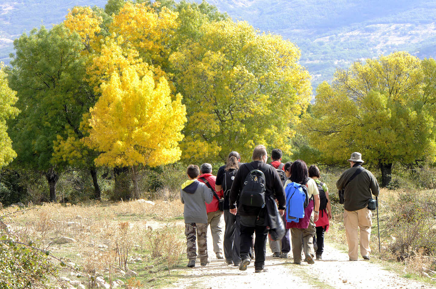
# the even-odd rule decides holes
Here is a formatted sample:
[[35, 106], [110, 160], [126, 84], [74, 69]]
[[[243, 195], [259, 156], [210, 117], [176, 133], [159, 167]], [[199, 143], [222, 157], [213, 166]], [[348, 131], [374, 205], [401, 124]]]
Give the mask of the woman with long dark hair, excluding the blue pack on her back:
[[319, 216], [320, 197], [317, 183], [309, 178], [307, 165], [302, 160], [296, 160], [291, 165], [290, 178], [285, 183], [295, 182], [300, 185], [306, 185], [307, 193], [310, 198], [309, 205], [304, 209], [304, 218], [298, 222], [286, 222], [286, 229], [291, 229], [292, 252], [295, 264], [301, 264], [301, 253], [304, 255], [308, 264], [314, 264], [313, 261], [313, 235], [315, 234], [315, 222]]

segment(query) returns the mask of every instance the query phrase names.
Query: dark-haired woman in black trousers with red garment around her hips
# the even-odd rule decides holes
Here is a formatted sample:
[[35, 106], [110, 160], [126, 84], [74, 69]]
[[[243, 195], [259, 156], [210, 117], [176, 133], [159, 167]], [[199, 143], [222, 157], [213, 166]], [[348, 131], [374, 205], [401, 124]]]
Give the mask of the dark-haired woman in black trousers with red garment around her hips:
[[329, 220], [331, 219], [330, 198], [328, 196], [327, 185], [319, 180], [320, 169], [316, 165], [311, 165], [309, 167], [309, 177], [315, 180], [318, 186], [318, 191], [320, 192], [320, 218], [315, 222], [316, 238], [314, 239], [313, 245], [316, 245], [315, 247], [317, 247], [317, 259], [322, 259], [324, 252], [324, 232], [328, 231], [330, 226]]

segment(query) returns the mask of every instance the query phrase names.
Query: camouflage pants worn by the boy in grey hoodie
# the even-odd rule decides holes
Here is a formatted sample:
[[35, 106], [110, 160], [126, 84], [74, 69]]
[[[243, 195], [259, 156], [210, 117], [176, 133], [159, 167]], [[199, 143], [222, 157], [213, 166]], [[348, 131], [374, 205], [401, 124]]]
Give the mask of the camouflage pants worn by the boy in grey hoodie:
[[[197, 231], [197, 238], [195, 236]], [[208, 241], [207, 241], [208, 224], [201, 223], [185, 223], [185, 235], [187, 245], [188, 259], [197, 258], [197, 248], [195, 246], [195, 239], [198, 242], [198, 257], [200, 262], [208, 260]]]

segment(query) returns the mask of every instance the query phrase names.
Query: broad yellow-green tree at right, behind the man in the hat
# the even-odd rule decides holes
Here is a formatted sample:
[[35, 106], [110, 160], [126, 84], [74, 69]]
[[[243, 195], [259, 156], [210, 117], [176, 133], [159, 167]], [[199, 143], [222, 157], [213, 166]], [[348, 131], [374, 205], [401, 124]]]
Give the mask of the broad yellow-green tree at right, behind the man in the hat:
[[318, 162], [342, 164], [353, 151], [391, 180], [395, 163], [436, 160], [436, 61], [395, 52], [338, 70], [317, 88], [300, 132]]

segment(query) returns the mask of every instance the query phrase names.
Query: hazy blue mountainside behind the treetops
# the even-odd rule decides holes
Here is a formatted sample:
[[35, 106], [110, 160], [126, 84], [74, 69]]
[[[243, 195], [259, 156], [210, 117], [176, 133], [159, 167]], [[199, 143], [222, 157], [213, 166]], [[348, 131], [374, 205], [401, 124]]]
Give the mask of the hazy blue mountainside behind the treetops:
[[[59, 1], [59, 0], [58, 0]], [[75, 5], [104, 7], [106, 0], [3, 0], [0, 4], [0, 61], [9, 63], [12, 41], [24, 31], [65, 19]], [[37, 3], [36, 3], [37, 2]], [[263, 31], [283, 35], [301, 50], [313, 86], [330, 80], [337, 67], [407, 50], [436, 54], [436, 2], [429, 0], [209, 0], [222, 12]]]

